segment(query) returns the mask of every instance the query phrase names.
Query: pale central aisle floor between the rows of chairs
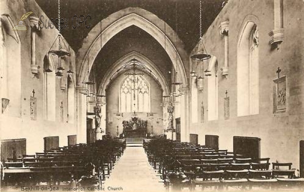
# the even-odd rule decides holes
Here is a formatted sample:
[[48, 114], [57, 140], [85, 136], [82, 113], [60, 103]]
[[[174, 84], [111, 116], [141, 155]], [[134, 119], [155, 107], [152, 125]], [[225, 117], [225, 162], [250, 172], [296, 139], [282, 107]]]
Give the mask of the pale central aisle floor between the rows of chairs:
[[104, 186], [105, 190], [122, 187], [122, 191], [132, 192], [165, 191], [164, 183], [160, 181], [161, 178], [149, 165], [143, 147], [127, 147]]

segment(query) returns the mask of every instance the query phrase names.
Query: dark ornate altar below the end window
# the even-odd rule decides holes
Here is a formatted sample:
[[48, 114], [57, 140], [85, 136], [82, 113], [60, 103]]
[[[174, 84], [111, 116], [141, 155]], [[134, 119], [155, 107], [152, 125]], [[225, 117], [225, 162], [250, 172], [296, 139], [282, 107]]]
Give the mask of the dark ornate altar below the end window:
[[131, 118], [129, 121], [123, 121], [123, 137], [145, 137], [147, 130], [147, 120], [141, 120], [137, 117]]

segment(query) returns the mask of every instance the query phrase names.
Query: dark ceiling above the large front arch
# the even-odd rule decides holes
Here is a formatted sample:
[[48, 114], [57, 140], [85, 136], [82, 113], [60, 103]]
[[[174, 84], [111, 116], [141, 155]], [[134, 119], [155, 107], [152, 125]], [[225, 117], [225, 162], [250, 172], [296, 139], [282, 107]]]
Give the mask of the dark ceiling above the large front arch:
[[[58, 0], [35, 1], [49, 18], [58, 17]], [[69, 28], [64, 29], [62, 34], [74, 51], [77, 51], [92, 26], [110, 14], [128, 7], [145, 9], [176, 30], [175, 2], [177, 2], [177, 34], [184, 42], [186, 50], [190, 52], [199, 39], [199, 0], [61, 0], [60, 17], [69, 19]], [[224, 0], [202, 0], [202, 2], [204, 32], [222, 9]], [[82, 25], [73, 29], [71, 20], [74, 15], [90, 15], [92, 20], [88, 22], [92, 24], [91, 28], [87, 29]]]

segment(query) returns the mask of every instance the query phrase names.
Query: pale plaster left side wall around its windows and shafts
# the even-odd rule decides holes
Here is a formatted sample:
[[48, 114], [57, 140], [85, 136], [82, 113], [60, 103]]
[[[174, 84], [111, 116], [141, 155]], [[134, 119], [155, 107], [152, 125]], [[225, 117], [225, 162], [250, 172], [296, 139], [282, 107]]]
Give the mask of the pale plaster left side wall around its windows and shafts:
[[[1, 15], [7, 14], [13, 20], [13, 25], [16, 25], [20, 17], [26, 12], [32, 11], [31, 16], [40, 17], [44, 15], [45, 19], [48, 19], [47, 15], [41, 10], [41, 8], [35, 3], [35, 1], [28, 1], [27, 4], [23, 1], [4, 1], [0, 9]], [[14, 54], [15, 61], [21, 60], [21, 65], [18, 65], [13, 60], [9, 60], [7, 65], [10, 68], [20, 71], [20, 81], [16, 82], [16, 76], [8, 76], [8, 86], [20, 86], [20, 93], [14, 95], [18, 97], [19, 104], [9, 103], [6, 111], [0, 117], [0, 132], [1, 139], [27, 139], [27, 153], [31, 154], [44, 149], [44, 137], [47, 136], [59, 136], [59, 145], [67, 145], [67, 135], [77, 134], [76, 124], [74, 122], [67, 122], [67, 73], [69, 68], [69, 61], [63, 60], [62, 79], [56, 78], [56, 119], [55, 121], [45, 120], [45, 99], [44, 99], [44, 58], [54, 43], [58, 30], [53, 29], [41, 29], [36, 32], [36, 65], [40, 66], [39, 75], [33, 78], [31, 73], [31, 27], [29, 25], [29, 17], [24, 20], [24, 24], [27, 26], [26, 31], [18, 31], [20, 37], [20, 53], [14, 50], [9, 50], [10, 54]], [[65, 42], [68, 49], [68, 44]], [[58, 44], [58, 43], [57, 43]], [[58, 45], [53, 49], [58, 49]], [[62, 41], [61, 41], [62, 44]], [[72, 49], [69, 49], [71, 53], [71, 64], [74, 68], [75, 54]], [[55, 61], [55, 64], [57, 61]], [[8, 69], [11, 70], [11, 69]], [[54, 72], [54, 71], [53, 71]], [[55, 71], [56, 72], [56, 71]], [[73, 82], [75, 82], [74, 73], [72, 76]], [[62, 89], [61, 89], [62, 87]], [[63, 89], [63, 87], [65, 89]], [[36, 102], [36, 120], [30, 119], [30, 96], [32, 91], [35, 91]], [[75, 100], [75, 99], [74, 99]], [[14, 101], [14, 100], [12, 100]], [[63, 106], [63, 120], [60, 116], [60, 106]], [[76, 104], [74, 104], [75, 106]], [[76, 107], [74, 107], [76, 110]], [[7, 111], [19, 111], [19, 114], [11, 114]], [[75, 112], [75, 111], [74, 111]], [[76, 118], [76, 116], [74, 116]]]

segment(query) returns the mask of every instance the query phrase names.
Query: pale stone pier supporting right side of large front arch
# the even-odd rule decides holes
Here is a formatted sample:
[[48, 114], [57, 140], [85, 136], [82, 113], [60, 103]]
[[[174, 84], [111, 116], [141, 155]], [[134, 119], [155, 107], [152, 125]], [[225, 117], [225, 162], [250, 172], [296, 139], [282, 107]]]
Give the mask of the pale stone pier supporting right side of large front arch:
[[180, 96], [180, 140], [189, 141], [189, 88], [179, 88]]

